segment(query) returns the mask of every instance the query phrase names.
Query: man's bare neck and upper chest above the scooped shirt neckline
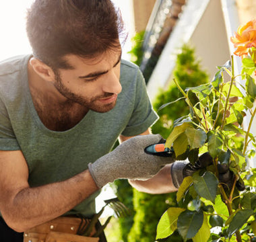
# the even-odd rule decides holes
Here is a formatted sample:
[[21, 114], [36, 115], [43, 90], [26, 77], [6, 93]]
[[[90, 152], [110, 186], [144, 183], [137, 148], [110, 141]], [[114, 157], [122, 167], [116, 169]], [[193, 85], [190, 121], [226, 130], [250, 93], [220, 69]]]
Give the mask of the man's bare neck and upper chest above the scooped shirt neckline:
[[64, 131], [78, 124], [88, 109], [71, 102], [55, 89], [53, 83], [42, 79], [28, 63], [28, 85], [36, 112], [46, 128]]

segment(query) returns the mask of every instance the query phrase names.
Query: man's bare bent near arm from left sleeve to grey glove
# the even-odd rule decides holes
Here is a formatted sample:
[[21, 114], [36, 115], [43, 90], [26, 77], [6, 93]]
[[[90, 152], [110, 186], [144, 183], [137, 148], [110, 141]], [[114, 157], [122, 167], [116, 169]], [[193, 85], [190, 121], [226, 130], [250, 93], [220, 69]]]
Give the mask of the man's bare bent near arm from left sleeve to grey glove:
[[61, 216], [96, 192], [88, 170], [63, 182], [30, 188], [21, 151], [0, 151], [0, 210], [5, 222], [22, 232]]

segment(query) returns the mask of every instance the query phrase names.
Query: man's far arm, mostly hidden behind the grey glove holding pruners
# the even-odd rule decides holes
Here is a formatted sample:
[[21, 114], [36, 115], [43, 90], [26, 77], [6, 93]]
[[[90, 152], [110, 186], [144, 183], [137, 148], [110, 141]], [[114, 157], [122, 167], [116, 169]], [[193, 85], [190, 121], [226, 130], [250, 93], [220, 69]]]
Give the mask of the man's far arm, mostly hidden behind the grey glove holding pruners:
[[[150, 129], [148, 129], [145, 132], [141, 133], [141, 135], [150, 133]], [[132, 138], [132, 136], [128, 137], [120, 135], [119, 142], [122, 143], [129, 138]], [[135, 188], [139, 192], [146, 192], [149, 194], [164, 194], [169, 192], [175, 192], [177, 191], [177, 188], [175, 188], [172, 184], [172, 177], [170, 175], [171, 165], [172, 164], [166, 165], [154, 177], [146, 181], [129, 179], [129, 184], [131, 184], [131, 186], [133, 186], [133, 188]]]

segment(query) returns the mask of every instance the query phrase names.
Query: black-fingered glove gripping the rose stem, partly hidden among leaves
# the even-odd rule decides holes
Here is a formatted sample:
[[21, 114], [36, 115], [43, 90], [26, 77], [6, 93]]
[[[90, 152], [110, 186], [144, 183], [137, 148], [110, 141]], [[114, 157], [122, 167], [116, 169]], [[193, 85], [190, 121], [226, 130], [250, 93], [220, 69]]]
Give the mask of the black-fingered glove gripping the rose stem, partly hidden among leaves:
[[[198, 161], [195, 162], [195, 165], [192, 165], [189, 161], [177, 161], [171, 167], [172, 183], [176, 188], [179, 188], [185, 177], [192, 176], [195, 171], [212, 164], [213, 160], [209, 153], [203, 153]], [[224, 184], [224, 186], [229, 189], [232, 188], [234, 173], [228, 169], [228, 165], [218, 163], [218, 173], [220, 183]], [[236, 188], [238, 188], [239, 191], [245, 190], [243, 181], [238, 180], [236, 182]]]

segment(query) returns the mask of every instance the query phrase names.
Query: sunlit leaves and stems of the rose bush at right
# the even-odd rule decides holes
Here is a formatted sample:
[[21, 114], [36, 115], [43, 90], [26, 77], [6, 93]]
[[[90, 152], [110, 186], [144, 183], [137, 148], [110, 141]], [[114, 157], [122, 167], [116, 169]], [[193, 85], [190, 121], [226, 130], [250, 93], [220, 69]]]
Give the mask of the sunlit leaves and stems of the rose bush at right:
[[[256, 52], [256, 48], [252, 50]], [[249, 143], [256, 146], [255, 136], [250, 133], [256, 114], [256, 108], [251, 105], [256, 97], [256, 83], [251, 77], [255, 69], [251, 61], [243, 59], [241, 76], [246, 80], [245, 87], [241, 86], [243, 93], [238, 89], [239, 83], [236, 83], [233, 58], [218, 67], [210, 83], [184, 90], [174, 79], [185, 97], [189, 114], [174, 120], [166, 147], [172, 147], [175, 153], [183, 155], [184, 159], [189, 158], [191, 163], [200, 154], [209, 152], [213, 163], [183, 180], [177, 193], [179, 207], [183, 209], [183, 212], [176, 214], [177, 227], [173, 223], [175, 213], [169, 219], [166, 219], [168, 214], [164, 214], [158, 224], [157, 238], [164, 239], [179, 231], [184, 241], [255, 240], [255, 169], [246, 167], [247, 156], [253, 155]], [[229, 81], [224, 80], [224, 73], [230, 76]], [[246, 130], [242, 125], [245, 112], [251, 114]], [[181, 151], [185, 151], [184, 154]], [[220, 164], [226, 165], [233, 174], [229, 186], [219, 180]], [[243, 187], [245, 190], [240, 192], [238, 189]], [[210, 230], [216, 226], [221, 227], [218, 234]]]

